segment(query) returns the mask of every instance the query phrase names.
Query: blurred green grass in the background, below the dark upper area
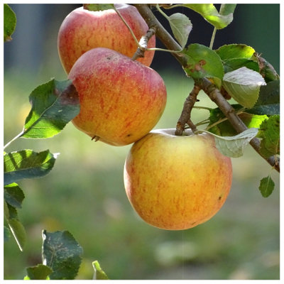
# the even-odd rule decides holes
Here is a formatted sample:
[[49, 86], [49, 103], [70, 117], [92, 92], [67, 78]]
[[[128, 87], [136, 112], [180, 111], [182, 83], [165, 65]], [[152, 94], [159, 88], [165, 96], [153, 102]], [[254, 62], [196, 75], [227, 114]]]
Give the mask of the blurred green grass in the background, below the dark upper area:
[[[168, 104], [155, 129], [174, 128], [192, 82], [181, 74], [161, 75]], [[23, 127], [28, 94], [48, 80], [5, 73], [4, 143]], [[214, 107], [204, 94], [199, 99], [199, 105]], [[192, 119], [196, 123], [207, 114], [195, 109]], [[279, 175], [272, 175], [271, 197], [261, 197], [259, 181], [271, 167], [250, 147], [233, 159], [233, 185], [220, 212], [186, 231], [156, 229], [133, 212], [123, 183], [130, 147], [94, 143], [68, 124], [54, 138], [20, 138], [6, 149], [49, 148], [60, 155], [46, 177], [18, 182], [26, 194], [18, 215], [28, 244], [23, 253], [13, 239], [4, 244], [5, 279], [23, 279], [26, 267], [41, 262], [43, 229], [69, 230], [82, 245], [78, 279], [92, 279], [94, 260], [111, 279], [279, 279]]]

